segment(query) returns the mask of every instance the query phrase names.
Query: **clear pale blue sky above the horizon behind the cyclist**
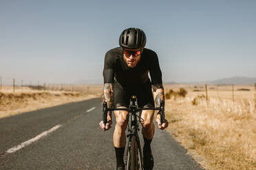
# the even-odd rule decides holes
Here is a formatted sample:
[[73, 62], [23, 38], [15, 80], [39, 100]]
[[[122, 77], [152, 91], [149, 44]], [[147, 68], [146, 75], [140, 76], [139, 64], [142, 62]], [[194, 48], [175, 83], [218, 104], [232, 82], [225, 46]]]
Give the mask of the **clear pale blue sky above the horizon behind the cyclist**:
[[0, 1], [0, 76], [103, 83], [127, 27], [147, 34], [164, 82], [256, 77], [256, 1]]

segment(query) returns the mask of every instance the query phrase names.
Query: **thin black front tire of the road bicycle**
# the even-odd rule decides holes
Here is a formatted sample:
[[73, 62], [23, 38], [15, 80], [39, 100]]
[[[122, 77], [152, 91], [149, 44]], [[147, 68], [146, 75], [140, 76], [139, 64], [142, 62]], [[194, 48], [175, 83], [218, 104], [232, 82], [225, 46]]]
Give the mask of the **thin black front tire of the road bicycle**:
[[138, 170], [138, 143], [136, 136], [131, 136], [131, 170]]

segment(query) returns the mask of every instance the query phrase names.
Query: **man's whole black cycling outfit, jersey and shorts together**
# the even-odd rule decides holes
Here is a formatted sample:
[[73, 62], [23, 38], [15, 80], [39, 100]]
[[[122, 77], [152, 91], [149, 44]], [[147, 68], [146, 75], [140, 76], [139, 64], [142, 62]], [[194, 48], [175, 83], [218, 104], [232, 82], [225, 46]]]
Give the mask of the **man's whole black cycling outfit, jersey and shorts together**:
[[136, 95], [140, 108], [153, 107], [151, 84], [162, 84], [158, 56], [150, 49], [143, 49], [140, 61], [134, 68], [127, 66], [120, 47], [110, 49], [105, 56], [103, 76], [104, 83], [114, 83], [116, 108], [129, 106], [131, 95]]

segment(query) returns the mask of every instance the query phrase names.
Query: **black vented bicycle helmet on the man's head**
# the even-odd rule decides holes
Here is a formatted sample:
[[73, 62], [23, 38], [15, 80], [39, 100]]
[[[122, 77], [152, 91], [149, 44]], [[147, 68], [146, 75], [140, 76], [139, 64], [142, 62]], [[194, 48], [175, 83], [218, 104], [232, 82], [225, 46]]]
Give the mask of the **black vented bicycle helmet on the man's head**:
[[146, 45], [146, 35], [142, 29], [130, 27], [125, 29], [119, 37], [119, 45], [126, 49], [142, 49]]

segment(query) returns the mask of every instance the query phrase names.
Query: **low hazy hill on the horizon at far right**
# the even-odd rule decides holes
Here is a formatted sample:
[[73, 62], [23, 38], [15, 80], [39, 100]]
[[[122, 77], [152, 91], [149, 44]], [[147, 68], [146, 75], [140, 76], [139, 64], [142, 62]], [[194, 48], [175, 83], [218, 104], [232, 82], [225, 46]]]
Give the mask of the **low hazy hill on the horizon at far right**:
[[208, 82], [209, 84], [255, 84], [256, 77], [230, 77]]

